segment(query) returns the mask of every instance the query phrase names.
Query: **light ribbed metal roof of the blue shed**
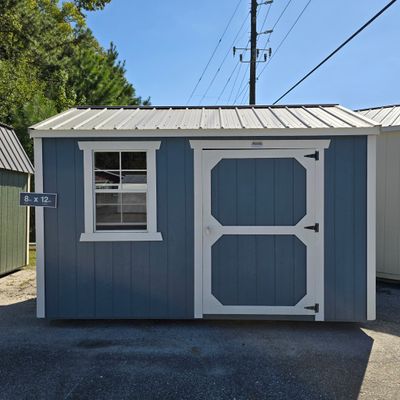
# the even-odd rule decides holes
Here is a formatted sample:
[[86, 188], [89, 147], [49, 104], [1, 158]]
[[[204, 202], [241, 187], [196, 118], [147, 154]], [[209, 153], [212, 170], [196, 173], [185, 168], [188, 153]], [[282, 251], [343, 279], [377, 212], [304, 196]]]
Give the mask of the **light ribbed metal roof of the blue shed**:
[[[31, 127], [37, 131], [265, 130], [371, 128], [378, 124], [339, 105], [76, 107]], [[31, 132], [34, 136], [34, 132]], [[48, 132], [50, 134], [50, 132]], [[160, 134], [162, 134], [160, 132]]]

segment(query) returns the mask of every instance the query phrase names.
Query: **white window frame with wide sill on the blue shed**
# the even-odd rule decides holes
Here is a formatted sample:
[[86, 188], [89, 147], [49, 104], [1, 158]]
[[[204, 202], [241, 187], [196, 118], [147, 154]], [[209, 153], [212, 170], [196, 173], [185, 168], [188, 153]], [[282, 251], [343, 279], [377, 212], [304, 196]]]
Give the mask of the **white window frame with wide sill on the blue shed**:
[[[81, 242], [135, 242], [161, 241], [162, 235], [157, 232], [157, 192], [156, 192], [156, 151], [160, 141], [152, 142], [78, 142], [83, 150], [84, 169], [84, 210], [85, 231], [81, 234]], [[147, 196], [146, 196], [146, 231], [96, 231], [95, 227], [95, 187], [94, 187], [94, 153], [96, 151], [137, 151], [145, 152], [147, 159]]]

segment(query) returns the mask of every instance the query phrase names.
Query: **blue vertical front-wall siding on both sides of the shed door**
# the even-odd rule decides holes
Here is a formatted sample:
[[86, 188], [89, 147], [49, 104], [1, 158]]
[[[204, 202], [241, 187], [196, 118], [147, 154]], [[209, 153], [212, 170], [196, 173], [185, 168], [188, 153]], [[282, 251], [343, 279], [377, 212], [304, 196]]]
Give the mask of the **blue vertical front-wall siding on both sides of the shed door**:
[[[331, 139], [325, 153], [325, 316], [364, 320], [367, 140]], [[150, 243], [79, 242], [83, 155], [77, 142], [43, 140], [44, 190], [59, 194], [59, 207], [45, 210], [46, 316], [192, 318], [193, 153], [188, 139], [163, 139], [157, 152], [157, 219], [164, 240]], [[278, 207], [274, 218], [293, 218], [285, 210]], [[260, 205], [256, 212], [263, 212]], [[250, 301], [254, 295], [241, 296]], [[270, 301], [268, 294], [257, 296]]]

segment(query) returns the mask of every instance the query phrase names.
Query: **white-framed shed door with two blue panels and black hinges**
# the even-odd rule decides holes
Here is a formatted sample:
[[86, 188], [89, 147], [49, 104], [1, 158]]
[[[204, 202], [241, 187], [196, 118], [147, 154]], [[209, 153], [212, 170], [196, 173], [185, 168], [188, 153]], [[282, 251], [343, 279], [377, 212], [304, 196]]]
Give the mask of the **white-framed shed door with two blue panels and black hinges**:
[[323, 319], [323, 157], [203, 150], [203, 314]]

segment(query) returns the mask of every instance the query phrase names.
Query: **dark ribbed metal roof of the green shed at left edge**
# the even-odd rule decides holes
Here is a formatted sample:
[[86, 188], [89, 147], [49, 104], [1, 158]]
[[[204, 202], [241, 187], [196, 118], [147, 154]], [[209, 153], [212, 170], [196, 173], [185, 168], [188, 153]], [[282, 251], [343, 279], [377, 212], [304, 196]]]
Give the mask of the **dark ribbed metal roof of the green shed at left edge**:
[[33, 174], [29, 161], [14, 129], [0, 123], [0, 169]]

